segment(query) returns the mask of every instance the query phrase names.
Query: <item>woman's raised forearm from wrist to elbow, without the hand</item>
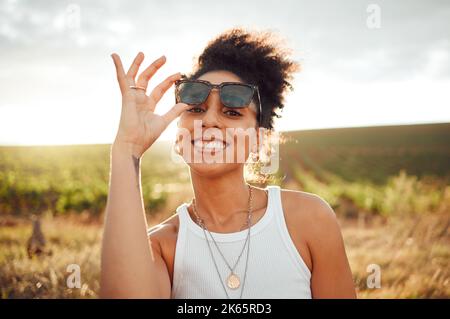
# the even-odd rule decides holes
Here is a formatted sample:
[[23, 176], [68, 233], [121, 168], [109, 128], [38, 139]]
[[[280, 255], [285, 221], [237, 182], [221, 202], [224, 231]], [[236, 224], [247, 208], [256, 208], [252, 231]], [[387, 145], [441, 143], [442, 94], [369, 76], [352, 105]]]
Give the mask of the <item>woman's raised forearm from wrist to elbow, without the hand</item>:
[[111, 149], [102, 250], [103, 298], [170, 298], [161, 256], [150, 248], [140, 185], [140, 159], [126, 144]]

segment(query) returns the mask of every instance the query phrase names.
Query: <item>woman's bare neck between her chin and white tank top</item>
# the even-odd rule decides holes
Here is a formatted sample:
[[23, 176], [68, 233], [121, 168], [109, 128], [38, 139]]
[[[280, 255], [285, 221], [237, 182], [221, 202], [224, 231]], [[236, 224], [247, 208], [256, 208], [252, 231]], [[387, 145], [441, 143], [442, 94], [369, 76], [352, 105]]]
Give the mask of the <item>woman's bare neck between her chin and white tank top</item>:
[[243, 172], [205, 177], [191, 171], [191, 181], [197, 213], [208, 229], [226, 230], [242, 226], [247, 218], [249, 201]]

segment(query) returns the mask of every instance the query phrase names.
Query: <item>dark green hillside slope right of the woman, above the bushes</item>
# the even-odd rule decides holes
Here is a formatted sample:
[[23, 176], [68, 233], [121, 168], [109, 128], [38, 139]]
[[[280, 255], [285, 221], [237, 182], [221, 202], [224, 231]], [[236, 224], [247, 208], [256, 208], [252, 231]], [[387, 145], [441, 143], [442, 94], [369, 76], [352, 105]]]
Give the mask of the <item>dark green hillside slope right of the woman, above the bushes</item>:
[[296, 131], [286, 139], [285, 166], [301, 162], [318, 177], [326, 171], [378, 185], [400, 170], [418, 178], [450, 177], [448, 123]]

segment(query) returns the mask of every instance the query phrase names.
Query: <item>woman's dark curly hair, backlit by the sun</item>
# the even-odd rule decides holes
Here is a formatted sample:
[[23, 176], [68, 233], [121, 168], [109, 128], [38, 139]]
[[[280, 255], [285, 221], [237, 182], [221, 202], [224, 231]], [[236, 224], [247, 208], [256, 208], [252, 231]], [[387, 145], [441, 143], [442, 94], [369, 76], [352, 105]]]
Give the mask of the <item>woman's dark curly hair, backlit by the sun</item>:
[[[293, 73], [300, 65], [288, 58], [291, 50], [270, 31], [248, 31], [241, 27], [226, 30], [209, 41], [194, 62], [193, 71], [185, 75], [197, 79], [214, 70], [234, 73], [246, 83], [258, 86], [262, 105], [260, 127], [273, 129], [277, 111], [284, 108], [286, 91], [293, 90]], [[255, 96], [256, 98], [256, 96]], [[257, 99], [256, 99], [257, 102]]]

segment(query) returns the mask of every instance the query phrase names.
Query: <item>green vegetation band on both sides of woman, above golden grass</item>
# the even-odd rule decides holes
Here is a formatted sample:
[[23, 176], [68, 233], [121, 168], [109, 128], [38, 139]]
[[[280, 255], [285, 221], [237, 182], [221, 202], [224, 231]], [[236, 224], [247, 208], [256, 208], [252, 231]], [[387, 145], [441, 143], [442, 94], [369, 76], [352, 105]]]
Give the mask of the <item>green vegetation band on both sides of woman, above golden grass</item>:
[[[295, 180], [296, 187], [323, 196], [335, 208], [350, 200], [364, 212], [389, 215], [435, 211], [448, 201], [450, 124], [284, 135], [277, 176]], [[109, 152], [110, 145], [0, 147], [0, 215], [100, 214]], [[164, 210], [169, 194], [188, 183], [186, 166], [170, 158], [170, 143], [157, 143], [145, 154], [142, 186], [149, 211]]]

